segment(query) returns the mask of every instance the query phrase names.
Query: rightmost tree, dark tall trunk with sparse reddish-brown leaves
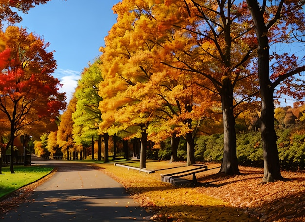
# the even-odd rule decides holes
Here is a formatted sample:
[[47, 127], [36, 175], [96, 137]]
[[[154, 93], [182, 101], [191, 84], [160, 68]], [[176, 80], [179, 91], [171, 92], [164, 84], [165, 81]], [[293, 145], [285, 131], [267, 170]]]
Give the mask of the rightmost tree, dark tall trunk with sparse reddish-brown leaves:
[[[271, 46], [290, 44], [304, 37], [304, 1], [247, 0], [258, 41], [258, 78], [261, 96], [261, 136], [264, 152], [263, 182], [281, 180], [277, 135], [274, 129], [274, 93], [304, 97], [305, 71], [298, 57], [289, 52], [271, 51]], [[290, 48], [288, 48], [290, 51]], [[271, 71], [270, 71], [271, 70]], [[277, 91], [275, 91], [278, 89]]]

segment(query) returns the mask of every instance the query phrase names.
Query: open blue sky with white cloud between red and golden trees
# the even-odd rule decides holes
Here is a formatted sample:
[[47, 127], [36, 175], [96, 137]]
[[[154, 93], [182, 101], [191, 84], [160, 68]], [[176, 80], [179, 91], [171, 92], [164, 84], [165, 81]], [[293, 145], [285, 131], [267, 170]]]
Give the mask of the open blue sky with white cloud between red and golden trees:
[[35, 32], [55, 51], [57, 70], [54, 76], [63, 84], [68, 100], [77, 86], [82, 70], [100, 55], [104, 37], [116, 22], [112, 11], [120, 0], [51, 0], [20, 14], [17, 26]]

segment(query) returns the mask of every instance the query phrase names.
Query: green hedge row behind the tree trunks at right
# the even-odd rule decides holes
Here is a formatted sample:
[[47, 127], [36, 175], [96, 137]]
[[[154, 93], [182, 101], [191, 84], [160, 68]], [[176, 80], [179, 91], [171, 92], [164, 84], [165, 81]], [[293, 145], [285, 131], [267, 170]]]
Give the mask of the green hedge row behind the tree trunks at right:
[[[277, 144], [282, 169], [305, 169], [305, 132], [292, 128], [277, 130]], [[195, 140], [196, 161], [221, 162], [223, 158], [223, 134], [201, 135]], [[263, 149], [260, 131], [237, 134], [237, 159], [240, 165], [263, 167]], [[170, 141], [165, 141], [158, 158], [171, 158]], [[178, 157], [186, 159], [186, 141], [179, 144]]]

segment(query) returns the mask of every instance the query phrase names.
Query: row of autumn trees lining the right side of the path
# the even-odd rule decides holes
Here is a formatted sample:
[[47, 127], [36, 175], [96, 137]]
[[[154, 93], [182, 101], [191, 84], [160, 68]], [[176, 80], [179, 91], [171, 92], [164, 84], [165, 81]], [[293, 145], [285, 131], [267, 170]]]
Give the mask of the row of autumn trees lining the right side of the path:
[[190, 165], [195, 163], [197, 132], [222, 119], [220, 173], [238, 174], [235, 119], [245, 110], [260, 109], [263, 181], [282, 179], [274, 95], [303, 99], [304, 80], [295, 74], [305, 66], [295, 54], [276, 51], [276, 46], [304, 43], [304, 4], [299, 0], [117, 3], [113, 7], [117, 23], [105, 38], [102, 55], [82, 73], [61, 117], [57, 144], [69, 155], [70, 148], [96, 138], [101, 147], [103, 136], [107, 161], [109, 135], [141, 138], [140, 167], [145, 168], [147, 140], [158, 147], [172, 137], [175, 161], [175, 145], [184, 136]]

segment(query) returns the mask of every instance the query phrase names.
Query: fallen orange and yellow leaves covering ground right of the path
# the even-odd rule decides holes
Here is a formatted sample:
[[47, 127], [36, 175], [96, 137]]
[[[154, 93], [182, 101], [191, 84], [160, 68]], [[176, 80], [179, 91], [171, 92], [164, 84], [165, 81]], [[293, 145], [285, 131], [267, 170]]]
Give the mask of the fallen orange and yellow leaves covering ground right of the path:
[[286, 180], [264, 184], [262, 168], [240, 166], [240, 175], [225, 176], [217, 174], [216, 165], [208, 165], [214, 170], [198, 174], [194, 187], [161, 182], [158, 171], [140, 173], [110, 164], [103, 164], [103, 168], [123, 184], [136, 202], [153, 213], [155, 220], [305, 222], [304, 171], [283, 171]]

